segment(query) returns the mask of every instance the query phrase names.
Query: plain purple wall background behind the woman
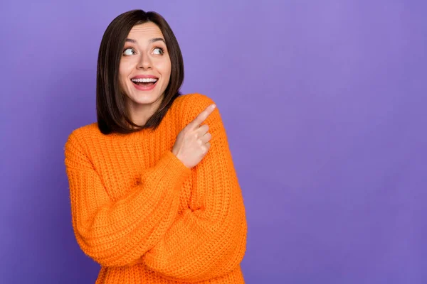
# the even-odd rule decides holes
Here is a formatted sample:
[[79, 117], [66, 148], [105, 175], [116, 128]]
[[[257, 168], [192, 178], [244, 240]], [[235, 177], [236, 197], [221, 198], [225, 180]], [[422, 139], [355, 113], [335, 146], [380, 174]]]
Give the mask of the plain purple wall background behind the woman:
[[[147, 2], [147, 3], [145, 3]], [[427, 282], [426, 1], [1, 1], [0, 283], [94, 283], [63, 146], [95, 121], [102, 33], [154, 10], [214, 99], [251, 283]]]

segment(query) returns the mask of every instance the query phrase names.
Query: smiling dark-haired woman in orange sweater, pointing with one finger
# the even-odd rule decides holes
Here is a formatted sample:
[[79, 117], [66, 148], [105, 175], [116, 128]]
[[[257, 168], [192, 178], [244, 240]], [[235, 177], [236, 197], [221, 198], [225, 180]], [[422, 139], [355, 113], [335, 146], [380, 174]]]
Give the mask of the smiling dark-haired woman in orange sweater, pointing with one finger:
[[226, 131], [212, 99], [179, 94], [183, 66], [157, 13], [122, 13], [103, 35], [97, 123], [65, 145], [75, 238], [101, 265], [96, 283], [244, 283]]

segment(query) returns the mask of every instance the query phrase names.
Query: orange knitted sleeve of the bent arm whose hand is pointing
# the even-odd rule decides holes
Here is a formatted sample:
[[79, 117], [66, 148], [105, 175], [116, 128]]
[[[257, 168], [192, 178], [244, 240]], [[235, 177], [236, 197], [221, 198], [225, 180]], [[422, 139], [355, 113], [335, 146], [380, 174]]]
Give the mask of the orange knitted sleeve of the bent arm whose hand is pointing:
[[112, 201], [83, 145], [75, 131], [65, 143], [75, 238], [102, 266], [132, 265], [176, 219], [180, 188], [191, 170], [167, 151], [138, 185]]

